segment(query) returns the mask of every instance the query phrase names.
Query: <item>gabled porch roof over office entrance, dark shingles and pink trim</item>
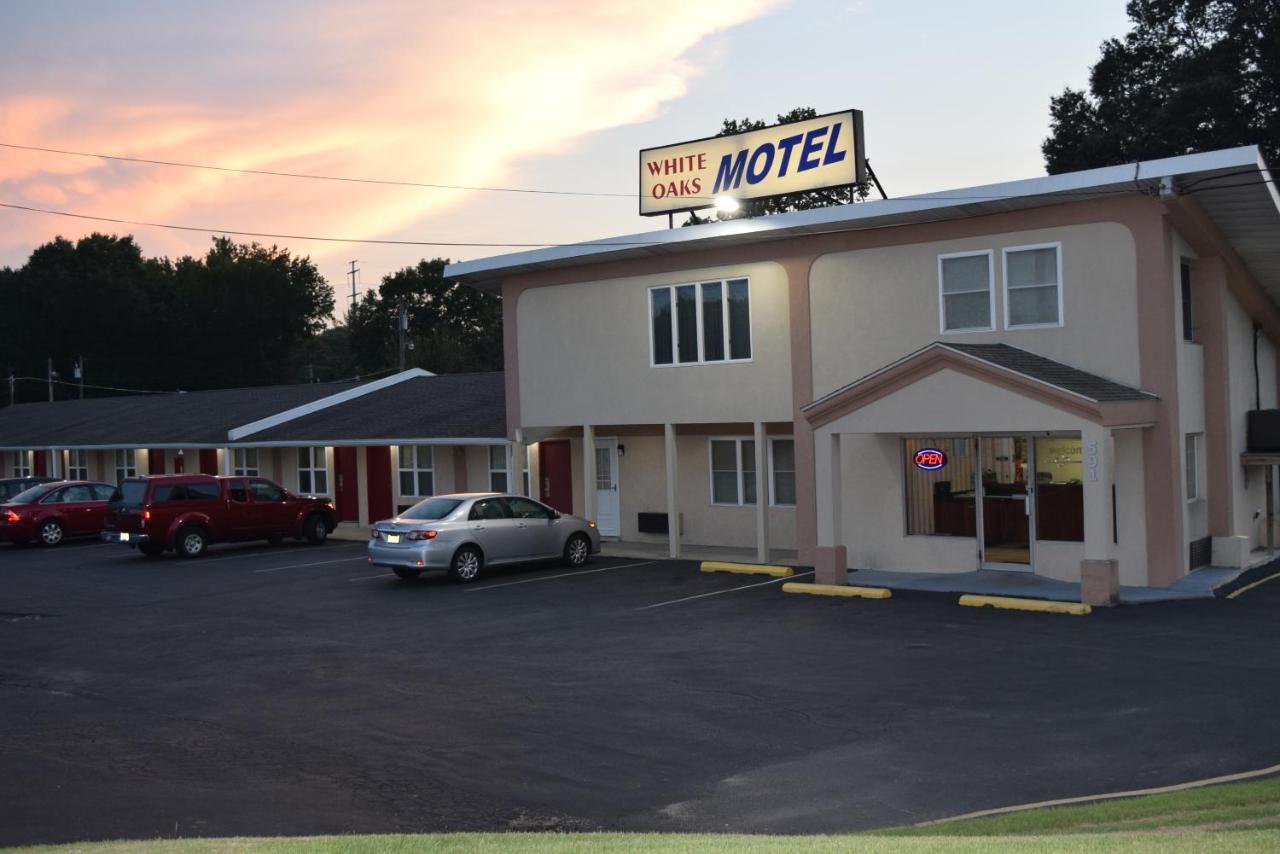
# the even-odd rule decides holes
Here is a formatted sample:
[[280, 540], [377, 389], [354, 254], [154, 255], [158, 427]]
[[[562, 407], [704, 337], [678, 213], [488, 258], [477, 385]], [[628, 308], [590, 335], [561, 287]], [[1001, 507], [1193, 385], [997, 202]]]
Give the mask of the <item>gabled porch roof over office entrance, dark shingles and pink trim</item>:
[[1149, 424], [1160, 399], [1009, 344], [936, 341], [806, 403], [800, 411], [812, 425], [820, 426], [941, 370], [968, 374], [1103, 426]]

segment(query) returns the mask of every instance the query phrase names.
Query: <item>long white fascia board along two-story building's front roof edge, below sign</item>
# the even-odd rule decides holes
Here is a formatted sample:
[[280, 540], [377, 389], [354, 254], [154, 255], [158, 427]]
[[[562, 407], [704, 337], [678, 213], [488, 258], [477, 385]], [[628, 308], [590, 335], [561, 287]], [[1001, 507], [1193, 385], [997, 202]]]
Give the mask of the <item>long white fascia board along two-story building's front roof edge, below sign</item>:
[[[1100, 169], [1084, 169], [1039, 178], [1024, 178], [978, 187], [963, 187], [940, 192], [922, 193], [867, 201], [856, 205], [835, 205], [813, 210], [756, 216], [751, 219], [732, 219], [722, 223], [707, 223], [689, 228], [672, 228], [659, 232], [644, 232], [621, 237], [608, 237], [598, 241], [584, 241], [568, 246], [552, 246], [540, 250], [526, 250], [507, 255], [494, 255], [471, 261], [460, 261], [444, 268], [449, 279], [492, 279], [503, 270], [526, 265], [553, 264], [556, 261], [586, 260], [591, 256], [607, 255], [622, 250], [643, 248], [646, 254], [662, 254], [699, 241], [716, 238], [745, 237], [750, 234], [786, 237], [788, 232], [804, 234], [806, 230], [823, 225], [854, 225], [859, 220], [906, 216], [925, 211], [938, 211], [952, 207], [980, 207], [983, 201], [1001, 202], [1012, 198], [1051, 197], [1055, 193], [1082, 193], [1106, 191], [1116, 186], [1143, 181], [1213, 172], [1219, 169], [1239, 169], [1244, 166], [1261, 168], [1262, 155], [1258, 146], [1240, 146], [1220, 151], [1179, 155], [1160, 160], [1126, 163]], [[969, 215], [969, 214], [965, 214]], [[892, 223], [883, 223], [892, 224]]]

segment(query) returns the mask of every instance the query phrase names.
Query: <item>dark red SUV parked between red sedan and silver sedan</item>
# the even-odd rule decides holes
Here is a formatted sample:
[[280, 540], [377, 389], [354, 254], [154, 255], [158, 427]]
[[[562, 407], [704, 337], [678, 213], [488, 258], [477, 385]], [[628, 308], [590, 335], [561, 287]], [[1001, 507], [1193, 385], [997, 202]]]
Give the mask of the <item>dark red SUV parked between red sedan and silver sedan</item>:
[[285, 536], [324, 543], [338, 525], [333, 501], [293, 495], [265, 478], [125, 478], [111, 495], [102, 539], [148, 557], [172, 548], [200, 557], [210, 543]]

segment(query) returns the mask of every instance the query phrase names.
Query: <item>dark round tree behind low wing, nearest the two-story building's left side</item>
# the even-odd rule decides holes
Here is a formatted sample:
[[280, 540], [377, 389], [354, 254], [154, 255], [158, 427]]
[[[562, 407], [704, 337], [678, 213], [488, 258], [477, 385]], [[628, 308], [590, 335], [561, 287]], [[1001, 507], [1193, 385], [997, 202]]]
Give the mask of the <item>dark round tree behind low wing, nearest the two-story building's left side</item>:
[[408, 312], [406, 366], [438, 374], [502, 370], [502, 300], [444, 278], [445, 259], [422, 260], [383, 277], [347, 319], [352, 357], [362, 373], [396, 367], [397, 319]]

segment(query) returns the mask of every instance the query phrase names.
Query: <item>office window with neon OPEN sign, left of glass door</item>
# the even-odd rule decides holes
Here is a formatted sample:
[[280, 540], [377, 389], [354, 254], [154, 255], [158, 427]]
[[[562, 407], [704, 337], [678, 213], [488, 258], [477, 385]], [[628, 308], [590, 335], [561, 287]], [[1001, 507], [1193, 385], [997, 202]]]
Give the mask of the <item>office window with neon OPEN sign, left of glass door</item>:
[[[902, 440], [902, 471], [906, 498], [906, 533], [927, 536], [977, 536], [974, 455], [972, 440], [911, 438]], [[920, 469], [920, 451], [941, 451], [941, 469]]]

